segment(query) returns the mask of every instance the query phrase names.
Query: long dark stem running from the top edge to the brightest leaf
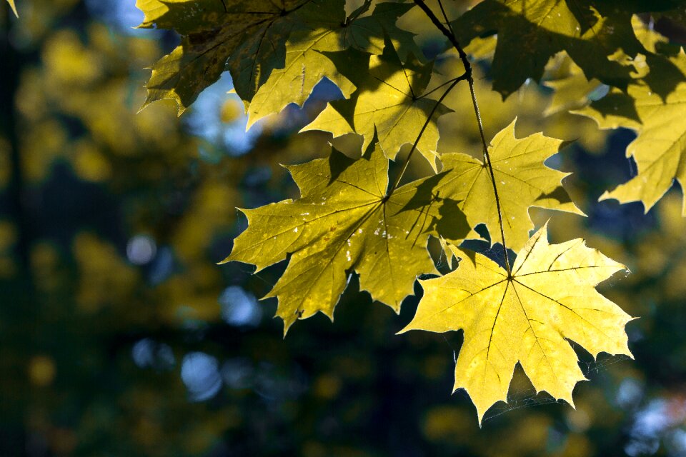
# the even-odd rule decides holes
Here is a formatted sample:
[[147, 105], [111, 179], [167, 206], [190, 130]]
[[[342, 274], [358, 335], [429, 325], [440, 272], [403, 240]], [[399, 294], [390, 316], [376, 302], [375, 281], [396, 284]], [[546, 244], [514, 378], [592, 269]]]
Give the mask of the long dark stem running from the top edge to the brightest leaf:
[[[477, 124], [479, 125], [479, 135], [481, 136], [481, 144], [484, 150], [484, 166], [487, 166], [489, 174], [491, 176], [491, 184], [493, 185], [493, 194], [495, 196], [495, 205], [497, 207], [498, 211], [498, 224], [500, 226], [500, 238], [502, 240], [502, 251], [505, 256], [505, 268], [507, 269], [507, 276], [508, 278], [512, 278], [512, 267], [509, 264], [509, 254], [507, 253], [507, 244], [505, 243], [505, 230], [504, 230], [504, 224], [502, 221], [502, 209], [500, 208], [500, 197], [498, 196], [498, 186], [495, 184], [495, 174], [493, 173], [493, 165], [491, 163], [491, 156], [488, 153], [488, 145], [486, 144], [486, 136], [484, 136], [484, 125], [481, 119], [481, 113], [479, 111], [479, 103], [477, 102], [477, 95], [474, 91], [474, 78], [472, 77], [472, 64], [469, 63], [469, 59], [467, 58], [467, 54], [464, 52], [464, 49], [462, 49], [462, 46], [459, 45], [459, 42], [457, 41], [457, 38], [455, 37], [453, 31], [452, 31], [452, 26], [450, 25], [450, 21], [448, 21], [447, 15], [445, 14], [445, 10], [443, 9], [443, 4], [441, 0], [438, 0], [438, 4], [441, 8], [443, 17], [445, 18], [446, 23], [448, 24], [449, 29], [447, 29], [441, 21], [437, 18], [437, 16], [434, 14], [433, 11], [427, 6], [426, 3], [424, 3], [424, 0], [414, 0], [414, 3], [419, 6], [419, 8], [424, 11], [424, 14], [426, 14], [429, 19], [432, 21], [434, 26], [437, 27], [441, 31], [442, 34], [447, 36], [447, 39], [450, 41], [454, 49], [457, 51], [457, 54], [459, 55], [459, 59], [462, 60], [462, 66], [464, 66], [464, 75], [467, 76], [467, 83], [469, 83], [469, 93], [472, 94], [472, 104], [474, 105], [474, 116], [477, 118]], [[407, 165], [406, 165], [407, 167]]]

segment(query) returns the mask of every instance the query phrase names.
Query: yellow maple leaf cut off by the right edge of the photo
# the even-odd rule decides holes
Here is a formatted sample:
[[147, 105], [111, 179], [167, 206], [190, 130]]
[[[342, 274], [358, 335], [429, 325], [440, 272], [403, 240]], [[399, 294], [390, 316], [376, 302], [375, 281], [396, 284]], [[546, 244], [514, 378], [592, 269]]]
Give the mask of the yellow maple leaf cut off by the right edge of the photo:
[[[680, 51], [670, 61], [680, 69], [675, 86], [666, 98], [656, 94], [645, 79], [636, 80], [627, 93], [612, 90], [584, 109], [574, 111], [597, 121], [601, 129], [625, 127], [637, 132], [627, 146], [627, 157], [636, 161], [638, 174], [625, 184], [600, 196], [620, 203], [641, 201], [645, 211], [672, 187], [676, 179], [686, 186], [686, 54]], [[655, 68], [650, 70], [655, 76]], [[657, 79], [657, 78], [656, 78]], [[686, 197], [682, 213], [686, 216]]]

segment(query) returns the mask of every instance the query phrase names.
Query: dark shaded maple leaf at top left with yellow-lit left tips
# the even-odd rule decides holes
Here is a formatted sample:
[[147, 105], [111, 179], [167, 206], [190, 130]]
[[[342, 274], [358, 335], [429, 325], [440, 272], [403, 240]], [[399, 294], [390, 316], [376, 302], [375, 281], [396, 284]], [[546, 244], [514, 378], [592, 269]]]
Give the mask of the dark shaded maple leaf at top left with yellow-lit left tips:
[[174, 29], [182, 43], [152, 68], [147, 104], [172, 99], [181, 114], [228, 69], [242, 99], [250, 100], [275, 68], [284, 65], [285, 39], [296, 24], [343, 14], [343, 1], [136, 0], [139, 27]]

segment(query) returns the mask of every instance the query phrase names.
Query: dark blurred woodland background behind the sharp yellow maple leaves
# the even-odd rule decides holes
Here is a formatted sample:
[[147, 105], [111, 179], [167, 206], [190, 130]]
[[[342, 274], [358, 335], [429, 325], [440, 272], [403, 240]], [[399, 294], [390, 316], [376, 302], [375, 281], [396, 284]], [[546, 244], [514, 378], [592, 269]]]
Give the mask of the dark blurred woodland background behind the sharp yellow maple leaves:
[[[565, 184], [589, 217], [552, 215], [553, 241], [583, 236], [626, 263], [634, 273], [601, 290], [640, 316], [635, 361], [577, 348], [590, 381], [576, 409], [518, 368], [479, 429], [451, 395], [461, 333], [394, 334], [416, 297], [396, 316], [353, 278], [335, 323], [315, 316], [282, 339], [275, 301], [257, 298], [284, 263], [255, 276], [215, 264], [245, 229], [236, 207], [297, 197], [279, 163], [327, 155], [328, 134], [296, 133], [332, 84], [247, 134], [228, 77], [180, 119], [164, 103], [136, 114], [144, 67], [174, 34], [134, 29], [134, 0], [17, 1], [19, 19], [0, 1], [0, 456], [686, 455], [680, 192], [647, 215], [596, 203], [630, 176], [629, 131], [542, 119], [550, 89], [503, 102], [479, 76], [489, 136], [519, 116], [519, 136], [579, 139], [551, 165], [575, 172]], [[440, 149], [478, 151], [464, 88], [452, 99]]]

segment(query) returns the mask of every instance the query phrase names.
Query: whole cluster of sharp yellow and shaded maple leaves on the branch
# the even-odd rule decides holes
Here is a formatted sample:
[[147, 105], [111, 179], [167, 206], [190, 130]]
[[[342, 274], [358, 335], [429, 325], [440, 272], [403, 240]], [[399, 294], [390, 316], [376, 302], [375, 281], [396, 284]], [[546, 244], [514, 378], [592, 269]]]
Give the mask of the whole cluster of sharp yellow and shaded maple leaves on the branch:
[[[678, 3], [485, 0], [449, 21], [440, 2], [443, 20], [422, 0], [138, 0], [141, 27], [182, 36], [153, 66], [146, 105], [172, 99], [181, 114], [229, 71], [252, 126], [288, 104], [302, 106], [322, 79], [332, 81], [342, 99], [303, 130], [357, 134], [362, 150], [350, 157], [334, 148], [327, 159], [289, 166], [300, 198], [244, 210], [249, 227], [226, 261], [259, 271], [289, 258], [268, 294], [278, 299], [287, 331], [319, 311], [333, 318], [352, 273], [374, 301], [399, 311], [419, 276], [439, 275], [427, 250], [429, 237], [439, 238], [445, 255], [462, 261], [422, 281], [424, 296], [406, 330], [464, 331], [455, 388], [467, 390], [479, 418], [506, 398], [517, 362], [537, 390], [572, 403], [584, 376], [565, 340], [594, 356], [630, 355], [630, 316], [595, 290], [625, 267], [580, 239], [550, 245], [545, 228], [530, 238], [532, 206], [582, 214], [562, 186], [566, 175], [544, 164], [564, 142], [542, 134], [517, 139], [512, 121], [488, 146], [462, 46], [497, 36], [490, 71], [504, 98], [525, 81], [541, 81], [554, 56], [569, 59], [576, 71], [549, 83], [557, 109], [638, 132], [627, 149], [638, 175], [603, 198], [642, 201], [647, 210], [672, 181], [686, 178], [684, 129], [671, 122], [685, 100], [686, 54], [644, 25], [665, 19], [683, 26]], [[439, 82], [436, 59], [398, 25], [412, 10], [447, 39], [437, 59], [457, 56], [462, 74]], [[473, 54], [489, 57], [483, 46]], [[452, 111], [444, 101], [460, 83], [471, 91], [482, 159], [437, 152], [439, 119]], [[607, 89], [600, 99], [598, 86]], [[400, 186], [415, 151], [434, 173]], [[502, 248], [502, 265], [458, 247], [481, 238], [480, 224]], [[508, 249], [517, 251], [513, 263]]]

